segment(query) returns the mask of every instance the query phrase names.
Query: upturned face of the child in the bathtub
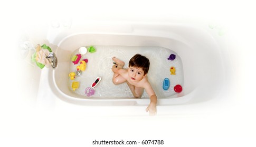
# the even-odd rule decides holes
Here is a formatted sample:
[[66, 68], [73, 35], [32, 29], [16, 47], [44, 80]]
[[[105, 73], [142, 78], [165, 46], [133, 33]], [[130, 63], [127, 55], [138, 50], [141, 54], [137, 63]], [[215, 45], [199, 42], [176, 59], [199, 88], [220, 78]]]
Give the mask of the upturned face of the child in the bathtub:
[[144, 71], [142, 68], [137, 68], [137, 67], [129, 67], [128, 69], [128, 75], [129, 78], [132, 81], [140, 81], [141, 79], [143, 79], [146, 75], [144, 75]]

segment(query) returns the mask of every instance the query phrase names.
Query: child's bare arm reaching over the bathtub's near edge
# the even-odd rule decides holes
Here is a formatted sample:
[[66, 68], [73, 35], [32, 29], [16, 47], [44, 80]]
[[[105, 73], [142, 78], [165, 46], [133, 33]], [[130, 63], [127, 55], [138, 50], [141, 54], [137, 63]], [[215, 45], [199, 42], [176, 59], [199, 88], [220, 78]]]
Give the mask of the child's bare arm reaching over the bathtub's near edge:
[[149, 115], [154, 116], [156, 114], [156, 103], [157, 103], [156, 93], [151, 87], [149, 82], [146, 84], [145, 90], [148, 93], [148, 96], [150, 97], [150, 103], [146, 108], [146, 112], [149, 111]]

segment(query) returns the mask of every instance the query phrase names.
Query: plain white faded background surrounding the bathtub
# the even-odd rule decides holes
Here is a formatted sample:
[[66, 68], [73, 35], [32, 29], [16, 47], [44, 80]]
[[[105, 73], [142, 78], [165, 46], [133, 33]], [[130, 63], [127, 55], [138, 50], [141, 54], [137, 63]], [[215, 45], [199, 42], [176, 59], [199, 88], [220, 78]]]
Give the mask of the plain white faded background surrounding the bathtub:
[[[255, 146], [255, 10], [250, 1], [1, 2], [0, 146], [93, 146], [94, 140], [164, 140], [158, 146]], [[83, 116], [37, 111], [18, 83], [18, 33], [49, 19], [214, 22], [234, 37], [241, 60], [236, 97], [216, 113], [165, 116]], [[232, 38], [233, 39], [233, 38]], [[18, 75], [18, 76], [17, 76]], [[25, 86], [25, 83], [24, 83]], [[75, 106], [79, 107], [79, 106]], [[115, 111], [116, 108], [109, 108]], [[137, 108], [137, 110], [144, 110]], [[103, 111], [103, 110], [99, 110]], [[191, 110], [193, 111], [193, 110]], [[67, 112], [67, 111], [65, 111]], [[94, 145], [95, 146], [95, 145]], [[107, 146], [107, 145], [101, 145]], [[112, 145], [111, 145], [112, 146]], [[118, 145], [115, 145], [118, 146]], [[129, 146], [129, 145], [123, 145]], [[140, 145], [131, 145], [140, 146]], [[156, 146], [156, 145], [142, 145]]]

